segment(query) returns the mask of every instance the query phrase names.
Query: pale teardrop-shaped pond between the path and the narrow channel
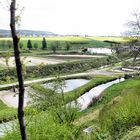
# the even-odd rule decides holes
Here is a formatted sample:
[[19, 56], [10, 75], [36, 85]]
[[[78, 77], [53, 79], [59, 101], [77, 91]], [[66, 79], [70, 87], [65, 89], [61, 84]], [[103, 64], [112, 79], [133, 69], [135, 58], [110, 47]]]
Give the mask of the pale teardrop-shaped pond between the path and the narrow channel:
[[[78, 88], [78, 87], [80, 87], [80, 86], [82, 86], [82, 85], [84, 85], [84, 84], [86, 84], [88, 82], [89, 82], [89, 80], [87, 80], [87, 79], [69, 79], [69, 80], [65, 80], [64, 83], [62, 83], [62, 90], [63, 90], [63, 92], [72, 91], [72, 90], [74, 90], [74, 89], [76, 89], [76, 88]], [[45, 88], [54, 89], [56, 85], [57, 84], [52, 82], [52, 83], [46, 83], [43, 86]], [[61, 87], [57, 88], [58, 92], [61, 92], [60, 88]]]

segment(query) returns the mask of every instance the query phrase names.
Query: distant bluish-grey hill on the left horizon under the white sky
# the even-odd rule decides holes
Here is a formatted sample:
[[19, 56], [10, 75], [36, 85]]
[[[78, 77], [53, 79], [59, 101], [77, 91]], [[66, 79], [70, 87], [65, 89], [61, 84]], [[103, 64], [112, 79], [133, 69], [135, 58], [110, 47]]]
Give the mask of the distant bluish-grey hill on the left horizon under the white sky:
[[[56, 36], [57, 34], [54, 34], [52, 32], [48, 31], [34, 31], [34, 30], [19, 30], [17, 33], [20, 36]], [[10, 30], [4, 30], [0, 29], [0, 37], [10, 37], [11, 36], [11, 31]]]

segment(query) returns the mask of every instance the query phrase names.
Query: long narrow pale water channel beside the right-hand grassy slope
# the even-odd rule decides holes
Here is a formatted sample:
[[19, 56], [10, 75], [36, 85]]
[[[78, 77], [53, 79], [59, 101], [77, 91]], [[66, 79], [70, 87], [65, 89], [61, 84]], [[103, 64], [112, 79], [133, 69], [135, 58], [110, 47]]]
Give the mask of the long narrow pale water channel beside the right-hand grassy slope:
[[89, 92], [86, 92], [82, 96], [80, 96], [76, 101], [72, 101], [68, 105], [70, 106], [78, 106], [80, 110], [86, 109], [92, 102], [94, 97], [98, 97], [106, 88], [112, 86], [113, 84], [124, 81], [124, 78], [117, 79], [106, 84], [101, 84], [92, 88]]

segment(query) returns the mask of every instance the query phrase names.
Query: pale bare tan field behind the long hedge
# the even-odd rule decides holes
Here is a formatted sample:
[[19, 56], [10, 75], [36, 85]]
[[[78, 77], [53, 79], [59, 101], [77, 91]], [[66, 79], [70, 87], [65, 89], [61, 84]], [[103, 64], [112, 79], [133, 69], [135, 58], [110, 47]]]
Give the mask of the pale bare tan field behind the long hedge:
[[[22, 64], [25, 66], [39, 66], [39, 65], [54, 65], [65, 62], [87, 60], [93, 58], [101, 58], [104, 56], [100, 55], [37, 55], [35, 56], [21, 56]], [[9, 57], [8, 65], [6, 63], [6, 58], [0, 57], [1, 69], [14, 67], [15, 60], [14, 57]]]

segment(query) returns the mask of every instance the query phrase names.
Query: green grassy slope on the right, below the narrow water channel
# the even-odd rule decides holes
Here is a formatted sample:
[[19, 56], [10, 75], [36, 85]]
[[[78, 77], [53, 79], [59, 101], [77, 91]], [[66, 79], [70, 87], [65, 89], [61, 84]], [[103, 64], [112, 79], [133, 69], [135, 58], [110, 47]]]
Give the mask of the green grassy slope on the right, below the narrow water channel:
[[[119, 98], [114, 98], [119, 97]], [[114, 100], [112, 100], [114, 99]], [[135, 126], [140, 125], [140, 79], [129, 79], [111, 86], [94, 105], [101, 107], [98, 127], [100, 137], [121, 139]], [[102, 135], [102, 136], [101, 136]], [[94, 139], [97, 137], [94, 135]], [[105, 139], [105, 137], [104, 137]]]

